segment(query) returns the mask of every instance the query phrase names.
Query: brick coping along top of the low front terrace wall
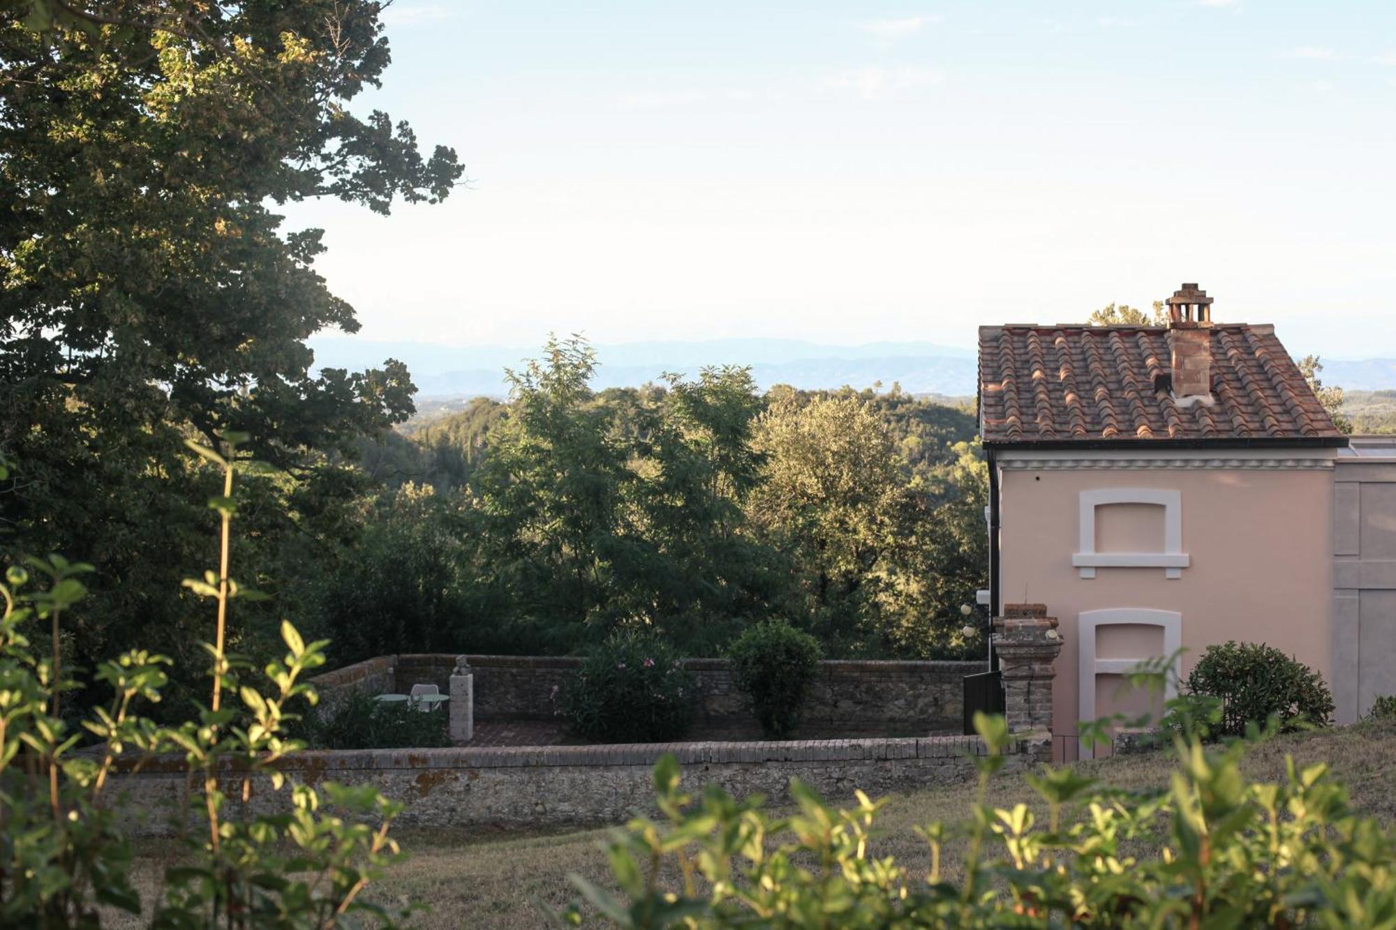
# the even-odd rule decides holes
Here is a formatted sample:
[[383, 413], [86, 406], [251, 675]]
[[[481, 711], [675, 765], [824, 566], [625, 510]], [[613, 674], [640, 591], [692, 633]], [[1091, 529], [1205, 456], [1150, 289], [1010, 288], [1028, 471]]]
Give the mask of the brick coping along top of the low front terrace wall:
[[[1022, 744], [1009, 753], [1025, 751]], [[666, 753], [681, 764], [702, 762], [819, 762], [850, 760], [948, 758], [987, 755], [977, 736], [930, 736], [859, 740], [792, 741], [706, 741], [706, 743], [621, 743], [609, 746], [521, 746], [521, 747], [450, 747], [410, 750], [306, 750], [282, 761], [278, 768], [300, 772], [306, 781], [334, 779], [335, 772], [350, 771], [423, 771], [459, 768], [528, 768], [528, 767], [652, 767]], [[184, 774], [183, 755], [161, 755], [142, 765], [124, 764], [119, 769], [138, 768], [141, 774]], [[229, 760], [226, 771], [242, 771]]]

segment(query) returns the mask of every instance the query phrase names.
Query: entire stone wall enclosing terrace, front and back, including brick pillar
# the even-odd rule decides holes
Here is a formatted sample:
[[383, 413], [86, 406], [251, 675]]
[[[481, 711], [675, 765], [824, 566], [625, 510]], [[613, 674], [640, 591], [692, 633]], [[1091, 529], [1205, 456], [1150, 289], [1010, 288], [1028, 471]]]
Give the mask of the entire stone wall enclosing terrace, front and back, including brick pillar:
[[[1041, 605], [1013, 605], [995, 619], [994, 637], [1002, 662], [1005, 716], [1019, 733], [1008, 753], [1008, 768], [1023, 769], [1053, 754], [1050, 730], [1054, 662], [1061, 651], [1055, 621]], [[493, 714], [532, 712], [570, 666], [565, 659], [470, 656], [477, 676], [476, 697]], [[320, 676], [325, 691], [348, 688], [405, 691], [420, 681], [450, 686], [454, 656], [399, 655], [373, 659]], [[826, 662], [812, 712], [847, 715], [896, 714], [930, 719], [959, 714], [960, 676], [979, 663], [953, 662]], [[704, 684], [705, 714], [740, 712], [732, 698], [730, 673], [723, 662], [694, 659], [690, 667]], [[465, 676], [456, 676], [465, 680]], [[919, 693], [926, 691], [930, 697]], [[493, 694], [491, 694], [493, 693]], [[452, 701], [454, 702], [454, 701]], [[493, 702], [493, 704], [489, 704]], [[976, 736], [906, 739], [697, 741], [630, 746], [529, 746], [436, 750], [306, 751], [282, 760], [279, 768], [311, 786], [334, 781], [373, 785], [405, 804], [401, 822], [426, 828], [558, 828], [618, 822], [634, 811], [651, 810], [651, 772], [666, 753], [678, 760], [684, 782], [698, 789], [719, 785], [738, 797], [762, 793], [776, 804], [787, 800], [792, 778], [810, 783], [835, 804], [847, 806], [854, 789], [881, 796], [928, 785], [953, 785], [974, 776], [974, 755], [986, 747]], [[261, 811], [285, 810], [288, 792], [272, 790], [258, 776], [239, 790], [239, 769], [229, 761], [221, 775], [223, 790], [237, 806]], [[179, 757], [149, 760], [135, 769], [121, 768], [113, 788], [124, 795], [123, 814], [133, 829], [158, 834], [176, 828], [170, 818], [190, 815], [190, 779]]]

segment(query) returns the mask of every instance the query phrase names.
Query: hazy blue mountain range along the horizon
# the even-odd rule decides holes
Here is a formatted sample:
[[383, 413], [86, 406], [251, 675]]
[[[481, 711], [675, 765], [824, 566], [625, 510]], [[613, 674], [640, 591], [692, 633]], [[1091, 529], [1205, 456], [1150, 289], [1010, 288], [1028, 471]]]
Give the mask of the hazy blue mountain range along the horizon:
[[[424, 342], [367, 342], [343, 337], [310, 341], [320, 367], [362, 370], [398, 359], [408, 364], [423, 398], [501, 397], [504, 369], [537, 356], [537, 348], [443, 346]], [[797, 388], [854, 388], [893, 383], [913, 394], [972, 395], [974, 350], [934, 342], [822, 345], [801, 339], [711, 339], [597, 345], [593, 387], [634, 387], [664, 371], [694, 376], [706, 364], [750, 364], [757, 384]], [[1349, 390], [1396, 388], [1396, 359], [1325, 359], [1325, 384]]]

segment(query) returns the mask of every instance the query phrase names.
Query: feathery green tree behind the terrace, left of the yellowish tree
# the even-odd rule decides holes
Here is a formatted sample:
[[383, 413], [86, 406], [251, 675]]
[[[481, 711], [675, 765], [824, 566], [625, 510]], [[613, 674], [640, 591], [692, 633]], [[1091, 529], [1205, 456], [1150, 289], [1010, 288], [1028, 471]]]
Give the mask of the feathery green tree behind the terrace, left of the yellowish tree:
[[616, 626], [701, 645], [764, 609], [773, 584], [769, 554], [741, 532], [759, 462], [750, 374], [712, 369], [645, 398], [599, 398], [595, 364], [567, 339], [510, 373], [508, 416], [472, 479], [484, 582], [553, 649]]

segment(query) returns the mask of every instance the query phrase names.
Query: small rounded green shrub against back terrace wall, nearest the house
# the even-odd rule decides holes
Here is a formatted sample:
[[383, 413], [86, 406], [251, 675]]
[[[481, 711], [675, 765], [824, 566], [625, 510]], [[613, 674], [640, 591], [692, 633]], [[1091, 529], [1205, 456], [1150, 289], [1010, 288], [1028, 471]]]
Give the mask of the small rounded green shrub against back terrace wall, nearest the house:
[[787, 736], [800, 722], [804, 694], [819, 672], [819, 641], [785, 620], [766, 620], [737, 637], [727, 656], [762, 732], [775, 739]]

